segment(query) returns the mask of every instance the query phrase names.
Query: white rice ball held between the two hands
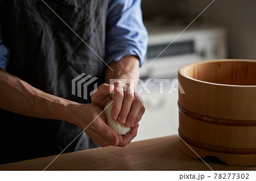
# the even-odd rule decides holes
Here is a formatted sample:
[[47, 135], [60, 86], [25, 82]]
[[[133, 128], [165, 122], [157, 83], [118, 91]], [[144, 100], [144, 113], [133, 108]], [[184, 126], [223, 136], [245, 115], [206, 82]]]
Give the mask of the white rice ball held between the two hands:
[[[113, 120], [111, 117], [111, 112], [112, 112], [112, 107], [113, 107], [112, 101], [113, 100], [110, 100], [104, 108], [104, 110], [105, 110], [104, 113], [106, 115], [107, 124], [109, 125], [110, 128], [114, 129], [114, 131], [117, 132], [117, 134], [119, 134], [119, 135], [126, 134], [130, 131], [131, 128], [125, 127], [125, 125], [119, 123], [118, 120]], [[109, 106], [109, 104], [110, 104], [110, 106]], [[106, 107], [108, 107], [108, 108], [106, 108]]]

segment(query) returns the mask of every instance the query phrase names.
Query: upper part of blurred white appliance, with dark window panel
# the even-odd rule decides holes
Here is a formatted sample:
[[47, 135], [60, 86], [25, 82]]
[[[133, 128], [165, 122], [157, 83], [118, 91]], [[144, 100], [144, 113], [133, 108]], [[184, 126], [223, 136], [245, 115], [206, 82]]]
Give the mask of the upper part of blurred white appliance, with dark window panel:
[[226, 31], [222, 27], [195, 23], [183, 32], [186, 27], [180, 25], [157, 26], [146, 22], [145, 26], [148, 31], [148, 50], [141, 77], [176, 77], [177, 70], [183, 65], [227, 57]]

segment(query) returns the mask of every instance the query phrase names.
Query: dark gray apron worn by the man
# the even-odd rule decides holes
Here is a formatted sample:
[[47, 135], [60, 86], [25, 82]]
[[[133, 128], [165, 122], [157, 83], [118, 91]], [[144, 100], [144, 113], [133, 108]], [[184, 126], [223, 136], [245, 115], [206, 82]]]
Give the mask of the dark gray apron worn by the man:
[[[44, 1], [104, 58], [108, 1]], [[42, 1], [2, 0], [0, 23], [3, 42], [11, 50], [9, 73], [49, 94], [91, 102], [72, 95], [71, 81], [86, 73], [99, 78], [100, 85], [106, 66]], [[0, 163], [59, 154], [81, 131], [65, 121], [0, 109]], [[95, 147], [83, 133], [64, 153]]]

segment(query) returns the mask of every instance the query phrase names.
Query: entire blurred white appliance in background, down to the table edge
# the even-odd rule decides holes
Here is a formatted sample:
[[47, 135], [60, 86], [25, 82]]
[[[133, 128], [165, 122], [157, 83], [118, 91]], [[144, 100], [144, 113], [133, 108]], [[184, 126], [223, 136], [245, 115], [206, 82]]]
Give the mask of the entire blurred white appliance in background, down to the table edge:
[[[146, 111], [139, 122], [137, 137], [133, 141], [177, 133], [179, 127], [178, 92], [174, 91], [172, 94], [167, 94], [167, 92], [172, 80], [177, 77], [178, 69], [192, 62], [226, 58], [227, 56], [224, 28], [209, 24], [192, 24], [181, 33], [185, 28], [183, 26], [159, 27], [148, 23], [145, 23], [145, 26], [148, 30], [148, 52], [145, 64], [141, 68], [141, 77], [165, 78], [165, 80], [168, 78], [170, 82], [164, 82], [163, 94], [160, 93], [159, 83], [154, 82], [154, 79], [148, 84], [152, 94], [142, 92], [142, 99], [149, 107], [146, 106]], [[177, 37], [179, 34], [180, 36]], [[164, 50], [172, 41], [174, 42], [170, 47]], [[156, 58], [163, 50], [162, 56]], [[155, 58], [156, 60], [152, 62]], [[138, 85], [137, 91], [141, 87]]]

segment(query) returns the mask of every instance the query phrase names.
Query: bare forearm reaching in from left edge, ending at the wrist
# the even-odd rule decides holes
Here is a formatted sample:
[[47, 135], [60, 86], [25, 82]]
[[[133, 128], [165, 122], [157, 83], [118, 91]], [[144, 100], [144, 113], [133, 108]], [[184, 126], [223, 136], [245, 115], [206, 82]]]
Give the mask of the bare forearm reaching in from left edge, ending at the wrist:
[[76, 124], [72, 111], [80, 104], [47, 94], [0, 70], [0, 107], [21, 115], [66, 120]]

